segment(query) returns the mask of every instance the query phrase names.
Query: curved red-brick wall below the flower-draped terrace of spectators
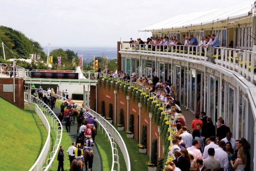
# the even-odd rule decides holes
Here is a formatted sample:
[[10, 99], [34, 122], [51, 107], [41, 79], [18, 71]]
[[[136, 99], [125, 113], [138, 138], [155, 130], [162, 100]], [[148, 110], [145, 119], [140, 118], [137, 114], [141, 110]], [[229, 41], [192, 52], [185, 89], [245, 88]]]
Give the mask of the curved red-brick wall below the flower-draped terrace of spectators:
[[[90, 89], [90, 97], [91, 97], [91, 102], [90, 102], [90, 108], [93, 109], [93, 101], [96, 97], [96, 90], [91, 86]], [[116, 90], [116, 88], [114, 88]], [[123, 109], [123, 114], [124, 114], [124, 120], [125, 120], [125, 130], [127, 130], [127, 125], [129, 124], [129, 121], [127, 122], [127, 114], [128, 114], [128, 119], [130, 119], [130, 114], [134, 115], [134, 139], [136, 139], [139, 142], [139, 106], [138, 103], [135, 100], [132, 100], [132, 97], [130, 97], [129, 100], [129, 107], [127, 111], [127, 99], [126, 96], [124, 95], [124, 92], [122, 93], [121, 89], [119, 89], [119, 92], [116, 94], [116, 120], [115, 120], [115, 94], [114, 90], [112, 90], [112, 84], [111, 88], [108, 89], [107, 83], [105, 89], [103, 88], [103, 81], [102, 81], [102, 86], [97, 87], [97, 113], [101, 113], [101, 101], [105, 101], [105, 115], [106, 117], [108, 116], [108, 105], [110, 103], [113, 104], [113, 125], [116, 123], [119, 124], [119, 110], [122, 108]], [[127, 95], [129, 95], [129, 90], [127, 91]], [[150, 134], [150, 118], [148, 115], [148, 112], [145, 112], [145, 108], [141, 107], [141, 130], [142, 130], [142, 125], [147, 125], [147, 154], [149, 155], [149, 145], [150, 145], [150, 139], [149, 139], [149, 134]], [[148, 122], [146, 122], [146, 121]], [[157, 135], [156, 135], [157, 134]], [[141, 136], [141, 135], [140, 135]], [[152, 120], [151, 124], [151, 139], [157, 138], [157, 145], [158, 145], [158, 137], [159, 133], [157, 130], [157, 125], [154, 124], [154, 121]], [[160, 142], [160, 153], [161, 157], [163, 157], [163, 143]], [[158, 154], [158, 147], [157, 147], [157, 154]], [[158, 157], [158, 156], [157, 156]]]

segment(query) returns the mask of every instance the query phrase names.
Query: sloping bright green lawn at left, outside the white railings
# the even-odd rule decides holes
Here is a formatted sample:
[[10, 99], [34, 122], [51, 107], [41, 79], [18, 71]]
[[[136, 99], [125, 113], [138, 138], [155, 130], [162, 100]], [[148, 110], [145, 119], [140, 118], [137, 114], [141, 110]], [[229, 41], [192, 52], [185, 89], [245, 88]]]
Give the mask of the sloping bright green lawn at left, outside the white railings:
[[2, 98], [0, 113], [0, 170], [27, 171], [41, 153], [47, 130], [34, 111], [21, 110]]

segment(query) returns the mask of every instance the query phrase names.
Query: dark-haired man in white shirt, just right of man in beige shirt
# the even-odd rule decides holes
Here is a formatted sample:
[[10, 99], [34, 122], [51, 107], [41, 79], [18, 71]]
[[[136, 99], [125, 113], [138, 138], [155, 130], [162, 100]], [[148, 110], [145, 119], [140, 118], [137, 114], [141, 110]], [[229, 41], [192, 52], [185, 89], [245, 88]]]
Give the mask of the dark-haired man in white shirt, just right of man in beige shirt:
[[225, 147], [225, 142], [220, 141], [218, 148], [215, 149], [214, 158], [219, 159], [221, 163], [221, 168], [223, 168], [224, 171], [227, 171], [228, 170], [228, 154], [223, 150], [224, 147]]

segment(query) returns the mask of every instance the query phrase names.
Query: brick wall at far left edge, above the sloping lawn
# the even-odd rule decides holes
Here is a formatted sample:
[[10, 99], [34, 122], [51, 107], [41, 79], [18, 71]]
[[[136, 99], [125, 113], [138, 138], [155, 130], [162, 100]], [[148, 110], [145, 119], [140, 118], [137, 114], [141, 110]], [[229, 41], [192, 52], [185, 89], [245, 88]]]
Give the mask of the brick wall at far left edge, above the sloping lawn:
[[13, 86], [13, 78], [0, 78], [0, 96], [9, 102], [15, 104], [20, 109], [24, 109], [24, 80], [15, 78], [15, 102], [13, 101], [13, 92], [3, 92], [3, 84]]

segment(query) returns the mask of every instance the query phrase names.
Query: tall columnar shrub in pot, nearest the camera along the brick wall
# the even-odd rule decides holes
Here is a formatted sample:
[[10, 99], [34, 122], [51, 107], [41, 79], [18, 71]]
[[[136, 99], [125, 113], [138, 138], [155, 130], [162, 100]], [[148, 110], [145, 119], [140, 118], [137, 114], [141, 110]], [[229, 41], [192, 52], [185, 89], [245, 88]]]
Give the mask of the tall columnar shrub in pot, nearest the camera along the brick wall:
[[157, 139], [154, 138], [151, 142], [151, 161], [146, 162], [148, 165], [148, 171], [157, 170]]

